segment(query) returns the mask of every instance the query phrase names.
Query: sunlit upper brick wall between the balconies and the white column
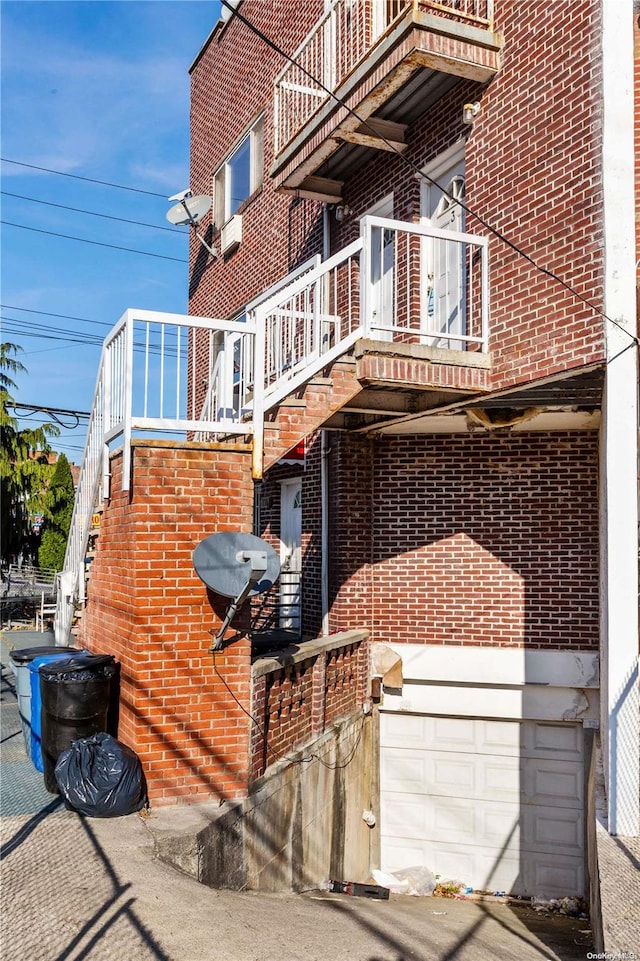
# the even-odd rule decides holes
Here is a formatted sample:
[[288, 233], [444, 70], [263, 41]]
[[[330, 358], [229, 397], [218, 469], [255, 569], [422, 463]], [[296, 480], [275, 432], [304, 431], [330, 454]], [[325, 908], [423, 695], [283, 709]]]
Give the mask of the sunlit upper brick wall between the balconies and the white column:
[[[496, 4], [504, 66], [468, 144], [468, 198], [537, 263], [602, 306], [599, 0]], [[485, 231], [468, 223], [472, 232]], [[496, 387], [603, 356], [602, 319], [491, 240]]]

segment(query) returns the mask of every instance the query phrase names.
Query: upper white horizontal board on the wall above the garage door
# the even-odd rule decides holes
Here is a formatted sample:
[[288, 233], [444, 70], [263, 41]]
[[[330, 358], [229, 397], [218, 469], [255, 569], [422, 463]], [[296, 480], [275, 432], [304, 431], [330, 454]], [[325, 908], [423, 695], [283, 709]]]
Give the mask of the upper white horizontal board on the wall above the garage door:
[[402, 660], [406, 680], [427, 683], [597, 689], [595, 651], [540, 651], [503, 647], [451, 647], [440, 644], [388, 644]]

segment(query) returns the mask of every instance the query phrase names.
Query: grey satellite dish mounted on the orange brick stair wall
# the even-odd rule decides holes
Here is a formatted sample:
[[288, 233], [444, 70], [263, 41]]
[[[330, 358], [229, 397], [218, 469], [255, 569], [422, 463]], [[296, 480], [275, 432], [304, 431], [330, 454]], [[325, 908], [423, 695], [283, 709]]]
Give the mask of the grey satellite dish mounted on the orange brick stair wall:
[[223, 531], [205, 537], [193, 552], [196, 574], [216, 594], [231, 598], [212, 650], [222, 647], [224, 632], [240, 605], [273, 587], [280, 574], [278, 555], [254, 534]]

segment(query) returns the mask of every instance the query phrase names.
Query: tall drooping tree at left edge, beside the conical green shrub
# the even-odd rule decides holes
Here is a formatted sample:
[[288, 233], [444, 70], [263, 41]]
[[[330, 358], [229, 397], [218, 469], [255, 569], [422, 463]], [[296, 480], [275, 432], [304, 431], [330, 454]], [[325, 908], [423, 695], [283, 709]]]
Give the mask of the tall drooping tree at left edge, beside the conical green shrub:
[[36, 514], [42, 513], [51, 475], [49, 437], [60, 431], [55, 424], [20, 430], [9, 413], [15, 403], [12, 375], [25, 372], [16, 359], [17, 344], [0, 344], [0, 496], [2, 497], [2, 561], [20, 554], [30, 540]]

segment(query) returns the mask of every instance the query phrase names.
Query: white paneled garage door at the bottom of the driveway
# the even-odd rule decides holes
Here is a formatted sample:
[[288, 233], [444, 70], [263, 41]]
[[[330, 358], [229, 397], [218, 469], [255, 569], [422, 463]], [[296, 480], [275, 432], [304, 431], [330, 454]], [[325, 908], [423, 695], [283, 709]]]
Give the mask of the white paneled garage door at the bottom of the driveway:
[[582, 895], [582, 745], [577, 724], [382, 713], [382, 869]]

